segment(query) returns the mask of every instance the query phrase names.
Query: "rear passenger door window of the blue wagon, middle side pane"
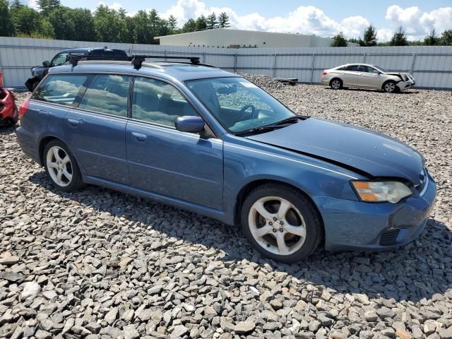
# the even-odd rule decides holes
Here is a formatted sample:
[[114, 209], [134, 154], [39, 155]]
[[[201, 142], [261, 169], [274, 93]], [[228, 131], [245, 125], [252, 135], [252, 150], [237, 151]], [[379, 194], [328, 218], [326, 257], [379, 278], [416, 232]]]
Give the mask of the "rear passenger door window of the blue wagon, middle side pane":
[[127, 117], [130, 81], [130, 76], [97, 75], [87, 88], [78, 107]]

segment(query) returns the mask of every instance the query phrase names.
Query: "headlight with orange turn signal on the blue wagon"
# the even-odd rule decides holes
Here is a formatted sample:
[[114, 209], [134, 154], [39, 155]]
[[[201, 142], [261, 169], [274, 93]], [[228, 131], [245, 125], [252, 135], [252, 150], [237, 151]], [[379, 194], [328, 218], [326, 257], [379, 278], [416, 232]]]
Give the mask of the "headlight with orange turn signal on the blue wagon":
[[362, 201], [398, 203], [412, 195], [411, 189], [402, 182], [352, 182]]

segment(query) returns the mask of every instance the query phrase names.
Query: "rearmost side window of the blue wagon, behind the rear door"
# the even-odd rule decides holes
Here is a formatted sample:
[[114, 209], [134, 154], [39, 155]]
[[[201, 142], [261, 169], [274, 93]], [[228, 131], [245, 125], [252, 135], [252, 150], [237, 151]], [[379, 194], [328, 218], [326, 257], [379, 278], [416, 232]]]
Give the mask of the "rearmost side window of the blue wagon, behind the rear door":
[[88, 74], [50, 75], [40, 84], [32, 99], [71, 106], [89, 77]]

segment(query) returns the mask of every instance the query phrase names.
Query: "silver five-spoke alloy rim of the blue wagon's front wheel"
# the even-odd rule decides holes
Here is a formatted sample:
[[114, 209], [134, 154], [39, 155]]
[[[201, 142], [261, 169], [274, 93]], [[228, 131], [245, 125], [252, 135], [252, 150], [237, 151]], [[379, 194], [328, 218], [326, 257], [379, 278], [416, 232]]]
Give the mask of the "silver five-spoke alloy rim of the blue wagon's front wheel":
[[249, 210], [249, 229], [266, 251], [289, 256], [299, 250], [306, 239], [302, 213], [284, 198], [266, 196]]

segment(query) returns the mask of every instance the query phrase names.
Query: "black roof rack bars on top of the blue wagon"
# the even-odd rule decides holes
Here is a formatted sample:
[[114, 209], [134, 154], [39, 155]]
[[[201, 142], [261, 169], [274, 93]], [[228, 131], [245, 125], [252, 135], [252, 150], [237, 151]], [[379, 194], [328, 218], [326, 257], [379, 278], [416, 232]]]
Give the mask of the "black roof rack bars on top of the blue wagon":
[[209, 64], [201, 64], [199, 61], [199, 57], [165, 57], [162, 55], [132, 55], [131, 57], [97, 57], [97, 56], [87, 56], [82, 54], [73, 54], [69, 53], [66, 57], [66, 61], [69, 61], [69, 64], [72, 66], [77, 66], [78, 61], [87, 61], [87, 60], [95, 60], [95, 61], [131, 61], [134, 69], [141, 69], [141, 65], [145, 62], [145, 59], [184, 59], [189, 60], [190, 62], [181, 61], [181, 64], [192, 64], [198, 66], [206, 66], [206, 67], [215, 67]]

